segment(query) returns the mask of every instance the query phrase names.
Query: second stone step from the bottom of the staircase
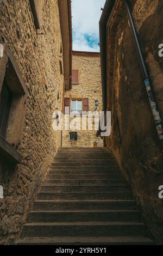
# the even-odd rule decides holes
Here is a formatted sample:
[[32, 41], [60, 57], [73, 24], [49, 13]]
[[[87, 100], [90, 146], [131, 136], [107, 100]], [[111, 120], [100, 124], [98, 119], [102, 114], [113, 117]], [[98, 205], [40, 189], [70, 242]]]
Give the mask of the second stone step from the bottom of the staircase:
[[139, 222], [53, 222], [27, 223], [22, 237], [51, 236], [146, 236], [145, 224]]

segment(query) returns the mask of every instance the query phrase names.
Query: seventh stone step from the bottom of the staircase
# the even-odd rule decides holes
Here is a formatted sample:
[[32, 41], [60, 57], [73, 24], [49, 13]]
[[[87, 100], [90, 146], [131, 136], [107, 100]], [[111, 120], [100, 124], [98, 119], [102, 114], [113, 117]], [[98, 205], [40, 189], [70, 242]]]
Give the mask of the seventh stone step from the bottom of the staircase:
[[44, 182], [44, 185], [114, 185], [119, 184], [123, 185], [125, 184], [125, 181], [123, 179], [99, 179], [99, 180], [80, 180], [80, 179], [62, 179], [62, 180], [55, 180], [55, 179], [46, 179]]

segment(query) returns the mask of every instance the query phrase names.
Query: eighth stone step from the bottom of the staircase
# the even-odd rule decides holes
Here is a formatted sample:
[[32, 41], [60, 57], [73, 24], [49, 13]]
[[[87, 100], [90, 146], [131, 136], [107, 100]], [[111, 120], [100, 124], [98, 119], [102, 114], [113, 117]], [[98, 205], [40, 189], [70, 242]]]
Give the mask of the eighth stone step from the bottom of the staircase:
[[118, 174], [48, 174], [47, 179], [60, 179], [60, 180], [65, 180], [65, 179], [80, 179], [80, 180], [88, 180], [88, 179], [124, 179], [123, 176], [118, 173]]

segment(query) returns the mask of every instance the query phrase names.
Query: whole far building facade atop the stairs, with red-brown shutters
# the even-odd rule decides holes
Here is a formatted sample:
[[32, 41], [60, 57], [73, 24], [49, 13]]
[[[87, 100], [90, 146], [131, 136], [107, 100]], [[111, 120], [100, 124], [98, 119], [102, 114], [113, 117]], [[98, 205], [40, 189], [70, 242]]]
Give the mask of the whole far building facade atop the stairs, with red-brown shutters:
[[[95, 126], [98, 125], [96, 118], [92, 118], [92, 129], [89, 129], [88, 118], [86, 117], [86, 127], [82, 129], [82, 111], [100, 113], [102, 111], [102, 87], [101, 68], [99, 53], [78, 52], [72, 54], [72, 88], [65, 92], [65, 107], [68, 112], [77, 114], [74, 117], [80, 118], [80, 127], [63, 131], [62, 147], [103, 147], [103, 140], [96, 137]], [[68, 102], [68, 103], [66, 103]], [[96, 106], [95, 105], [98, 105]], [[77, 112], [76, 112], [77, 111]], [[70, 118], [72, 121], [74, 118]], [[81, 130], [79, 130], [81, 128]]]

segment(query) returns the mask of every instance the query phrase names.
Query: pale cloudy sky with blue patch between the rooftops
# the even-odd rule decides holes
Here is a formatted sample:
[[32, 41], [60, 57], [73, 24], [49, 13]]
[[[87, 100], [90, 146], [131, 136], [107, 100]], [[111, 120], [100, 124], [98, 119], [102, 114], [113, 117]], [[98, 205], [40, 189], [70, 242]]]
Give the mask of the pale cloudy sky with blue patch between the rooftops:
[[73, 50], [99, 51], [99, 19], [105, 0], [72, 0]]

